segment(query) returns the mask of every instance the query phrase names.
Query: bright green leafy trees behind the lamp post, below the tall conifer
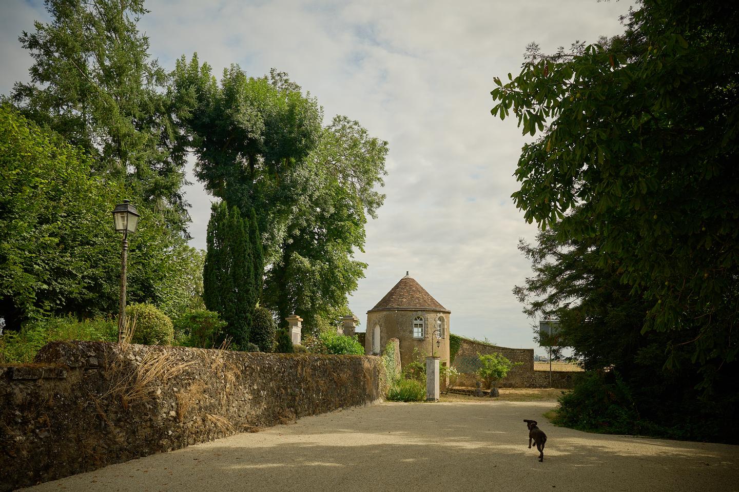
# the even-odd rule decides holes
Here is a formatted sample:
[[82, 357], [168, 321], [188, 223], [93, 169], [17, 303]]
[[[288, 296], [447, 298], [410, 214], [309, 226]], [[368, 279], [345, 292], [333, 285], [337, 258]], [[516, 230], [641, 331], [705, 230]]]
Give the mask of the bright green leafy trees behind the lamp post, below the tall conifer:
[[[58, 134], [0, 105], [0, 316], [7, 329], [52, 314], [118, 312], [121, 238], [110, 211], [126, 191], [91, 177], [92, 165]], [[185, 285], [188, 246], [138, 208], [129, 299], [177, 311], [189, 302], [177, 287]]]

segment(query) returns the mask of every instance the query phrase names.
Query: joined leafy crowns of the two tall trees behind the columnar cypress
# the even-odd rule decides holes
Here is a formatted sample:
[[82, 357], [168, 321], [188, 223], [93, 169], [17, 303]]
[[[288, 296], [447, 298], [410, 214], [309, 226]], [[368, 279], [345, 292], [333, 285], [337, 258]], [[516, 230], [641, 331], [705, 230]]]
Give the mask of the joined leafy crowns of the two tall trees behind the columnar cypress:
[[364, 276], [353, 255], [364, 247], [366, 214], [384, 200], [375, 187], [386, 142], [345, 117], [321, 128], [316, 99], [284, 73], [248, 77], [232, 65], [218, 83], [194, 55], [172, 77], [198, 179], [242, 215], [256, 211], [270, 266], [263, 304], [283, 328], [297, 313], [318, 334]]

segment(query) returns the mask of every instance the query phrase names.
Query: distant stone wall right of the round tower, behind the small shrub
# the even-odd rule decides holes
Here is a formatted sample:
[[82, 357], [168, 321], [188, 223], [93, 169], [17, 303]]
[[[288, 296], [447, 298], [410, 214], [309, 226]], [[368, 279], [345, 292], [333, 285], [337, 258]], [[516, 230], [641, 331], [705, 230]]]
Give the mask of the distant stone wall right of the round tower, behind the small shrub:
[[505, 358], [513, 362], [522, 363], [514, 367], [505, 378], [498, 381], [499, 388], [571, 388], [574, 378], [579, 375], [571, 371], [552, 371], [551, 384], [549, 382], [549, 371], [534, 370], [534, 349], [531, 348], [508, 348], [493, 344], [477, 342], [463, 338], [460, 350], [454, 356], [452, 366], [457, 367], [460, 376], [457, 378], [457, 386], [474, 387], [477, 376], [476, 359], [478, 354], [501, 353]]

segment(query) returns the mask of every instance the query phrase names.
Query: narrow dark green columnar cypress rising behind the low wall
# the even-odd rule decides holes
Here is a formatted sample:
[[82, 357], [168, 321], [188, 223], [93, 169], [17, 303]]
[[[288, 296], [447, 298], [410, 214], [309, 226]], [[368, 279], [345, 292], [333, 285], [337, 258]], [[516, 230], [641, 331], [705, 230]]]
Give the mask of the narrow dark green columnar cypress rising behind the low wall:
[[220, 313], [234, 344], [245, 349], [256, 306], [251, 221], [236, 207], [221, 201], [213, 204], [208, 222], [207, 252], [203, 268], [203, 300], [210, 311]]

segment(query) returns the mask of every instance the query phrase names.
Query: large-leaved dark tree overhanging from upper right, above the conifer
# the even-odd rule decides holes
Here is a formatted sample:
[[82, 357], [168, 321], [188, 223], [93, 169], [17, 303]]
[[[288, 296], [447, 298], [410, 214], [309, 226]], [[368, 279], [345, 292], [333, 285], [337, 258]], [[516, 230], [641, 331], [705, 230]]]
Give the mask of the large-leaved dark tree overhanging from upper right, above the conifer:
[[642, 330], [667, 333], [667, 367], [690, 347], [706, 389], [735, 373], [739, 350], [738, 15], [722, 1], [643, 1], [607, 42], [530, 46], [491, 92], [492, 114], [512, 109], [540, 133], [516, 171], [526, 220], [596, 238], [597, 265], [649, 303]]

